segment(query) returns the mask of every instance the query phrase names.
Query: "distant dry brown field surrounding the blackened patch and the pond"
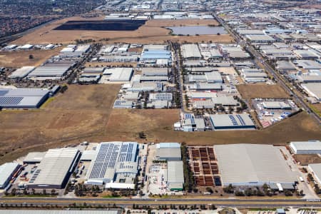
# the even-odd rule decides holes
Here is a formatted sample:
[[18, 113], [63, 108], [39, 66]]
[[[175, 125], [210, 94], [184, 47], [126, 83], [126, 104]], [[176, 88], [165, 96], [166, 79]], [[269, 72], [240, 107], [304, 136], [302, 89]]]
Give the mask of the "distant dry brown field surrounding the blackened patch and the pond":
[[[84, 20], [79, 17], [72, 17], [68, 19], [61, 19], [54, 23], [48, 24], [41, 29], [37, 29], [30, 34], [27, 34], [16, 41], [13, 44], [70, 44], [76, 39], [93, 39], [99, 41], [100, 39], [109, 39], [103, 41], [107, 43], [132, 43], [132, 44], [159, 44], [167, 40], [178, 42], [201, 42], [201, 41], [213, 41], [230, 43], [233, 38], [230, 35], [200, 35], [200, 36], [170, 36], [170, 30], [161, 26], [173, 26], [175, 25], [208, 25], [217, 24], [214, 20], [167, 20], [165, 24], [160, 20], [147, 21], [145, 25], [141, 26], [136, 31], [54, 31], [57, 26], [60, 26], [66, 21], [70, 20]], [[167, 25], [168, 24], [168, 25]]]

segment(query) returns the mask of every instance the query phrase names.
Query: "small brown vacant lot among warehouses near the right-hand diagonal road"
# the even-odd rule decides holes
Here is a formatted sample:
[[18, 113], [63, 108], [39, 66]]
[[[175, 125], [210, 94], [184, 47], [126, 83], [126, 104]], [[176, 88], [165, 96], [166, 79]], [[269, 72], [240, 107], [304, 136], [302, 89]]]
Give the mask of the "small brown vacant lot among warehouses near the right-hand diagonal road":
[[241, 96], [250, 98], [289, 98], [290, 96], [278, 85], [267, 85], [265, 83], [240, 84], [236, 86]]

